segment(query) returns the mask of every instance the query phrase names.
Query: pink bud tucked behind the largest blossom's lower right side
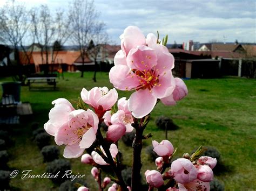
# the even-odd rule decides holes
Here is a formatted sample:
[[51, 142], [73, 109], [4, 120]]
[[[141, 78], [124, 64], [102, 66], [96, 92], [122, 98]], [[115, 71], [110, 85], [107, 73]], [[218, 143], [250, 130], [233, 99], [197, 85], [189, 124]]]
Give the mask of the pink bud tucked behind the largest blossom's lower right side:
[[188, 91], [186, 84], [178, 77], [174, 78], [176, 86], [171, 95], [161, 98], [161, 102], [165, 105], [176, 105], [176, 102], [184, 98]]

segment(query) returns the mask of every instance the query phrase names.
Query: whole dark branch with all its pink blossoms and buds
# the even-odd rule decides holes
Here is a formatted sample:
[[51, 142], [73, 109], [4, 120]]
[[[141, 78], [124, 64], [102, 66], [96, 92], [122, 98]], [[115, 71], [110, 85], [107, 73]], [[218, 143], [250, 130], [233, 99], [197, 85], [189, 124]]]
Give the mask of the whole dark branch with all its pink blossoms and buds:
[[[114, 56], [109, 77], [115, 88], [134, 91], [131, 96], [127, 100], [126, 97], [118, 100], [115, 88], [83, 88], [77, 102], [79, 109], [73, 108], [65, 98], [52, 102], [54, 107], [44, 129], [55, 137], [57, 145], [65, 145], [65, 158], [82, 156], [83, 163], [93, 166], [91, 174], [99, 190], [104, 190], [112, 180], [114, 183], [109, 191], [137, 191], [142, 187], [138, 180], [143, 140], [152, 137], [151, 133], [143, 135], [151, 111], [158, 102], [175, 105], [187, 95], [188, 90], [183, 80], [172, 75], [174, 58], [165, 46], [167, 36], [162, 41], [159, 41], [159, 34], [156, 37], [150, 33], [145, 38], [138, 27], [129, 26], [120, 38], [121, 49]], [[114, 111], [116, 102], [118, 110]], [[87, 109], [89, 107], [91, 109]], [[101, 131], [102, 123], [108, 126], [105, 135]], [[132, 143], [132, 178], [131, 185], [126, 185], [121, 173], [118, 140], [132, 131], [136, 131]], [[191, 156], [185, 153], [183, 158], [171, 162], [177, 148], [174, 149], [169, 140], [161, 140], [160, 143], [152, 140], [152, 145], [159, 157], [155, 161], [157, 170], [145, 172], [149, 190], [210, 190], [212, 168], [217, 161], [201, 157], [204, 147], [199, 147]], [[89, 147], [94, 151], [83, 154]], [[114, 176], [105, 177], [102, 181], [102, 165], [109, 165]], [[79, 186], [79, 191], [89, 190]]]

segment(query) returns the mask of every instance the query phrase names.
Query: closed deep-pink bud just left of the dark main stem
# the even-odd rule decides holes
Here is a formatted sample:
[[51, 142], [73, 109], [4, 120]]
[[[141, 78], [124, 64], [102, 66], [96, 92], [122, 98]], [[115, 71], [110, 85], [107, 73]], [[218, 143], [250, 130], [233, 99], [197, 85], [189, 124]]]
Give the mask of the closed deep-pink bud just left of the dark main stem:
[[109, 126], [109, 129], [107, 129], [106, 138], [111, 142], [116, 142], [122, 136], [125, 135], [125, 132], [126, 132], [125, 125], [123, 123], [116, 123]]

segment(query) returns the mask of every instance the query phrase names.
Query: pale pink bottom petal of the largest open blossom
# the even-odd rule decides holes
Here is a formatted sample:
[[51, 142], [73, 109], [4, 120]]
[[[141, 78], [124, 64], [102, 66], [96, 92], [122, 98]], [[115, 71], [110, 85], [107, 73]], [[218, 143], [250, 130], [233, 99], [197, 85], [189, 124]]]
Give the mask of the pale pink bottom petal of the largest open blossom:
[[153, 110], [156, 103], [157, 98], [148, 89], [140, 89], [131, 95], [128, 107], [134, 117], [142, 118]]

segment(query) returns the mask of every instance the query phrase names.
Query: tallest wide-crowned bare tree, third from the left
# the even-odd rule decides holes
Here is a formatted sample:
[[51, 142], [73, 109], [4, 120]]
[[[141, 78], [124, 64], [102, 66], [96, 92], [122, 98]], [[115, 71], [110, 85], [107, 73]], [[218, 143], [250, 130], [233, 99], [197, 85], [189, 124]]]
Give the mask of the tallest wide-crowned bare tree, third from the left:
[[[75, 45], [78, 44], [79, 46], [83, 67], [92, 33], [98, 26], [99, 14], [95, 10], [93, 1], [73, 0], [70, 5], [69, 17], [70, 30], [73, 30], [71, 39]], [[83, 76], [84, 71], [82, 69], [81, 77]]]

